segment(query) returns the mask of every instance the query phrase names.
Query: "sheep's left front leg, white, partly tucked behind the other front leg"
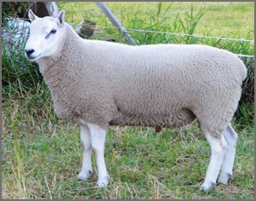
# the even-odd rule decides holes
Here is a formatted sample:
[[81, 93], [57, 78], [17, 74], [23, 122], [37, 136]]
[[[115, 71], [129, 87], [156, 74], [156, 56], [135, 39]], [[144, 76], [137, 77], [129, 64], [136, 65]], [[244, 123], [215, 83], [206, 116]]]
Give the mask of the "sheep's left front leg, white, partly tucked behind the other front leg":
[[78, 181], [87, 180], [92, 173], [92, 144], [87, 125], [80, 126], [80, 137], [82, 143], [82, 170], [77, 176]]

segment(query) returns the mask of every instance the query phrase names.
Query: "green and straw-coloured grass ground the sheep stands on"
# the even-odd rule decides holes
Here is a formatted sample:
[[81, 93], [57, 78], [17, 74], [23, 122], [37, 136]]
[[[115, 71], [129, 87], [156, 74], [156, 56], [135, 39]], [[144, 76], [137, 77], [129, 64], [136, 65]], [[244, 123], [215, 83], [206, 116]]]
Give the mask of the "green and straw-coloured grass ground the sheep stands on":
[[[106, 163], [107, 190], [94, 174], [81, 184], [79, 127], [60, 121], [46, 86], [22, 93], [9, 89], [3, 103], [3, 198], [253, 198], [253, 122], [234, 127], [240, 139], [229, 186], [199, 192], [210, 147], [195, 121], [155, 133], [147, 127], [111, 127]], [[241, 108], [243, 108], [242, 106]], [[247, 116], [247, 115], [246, 115]]]

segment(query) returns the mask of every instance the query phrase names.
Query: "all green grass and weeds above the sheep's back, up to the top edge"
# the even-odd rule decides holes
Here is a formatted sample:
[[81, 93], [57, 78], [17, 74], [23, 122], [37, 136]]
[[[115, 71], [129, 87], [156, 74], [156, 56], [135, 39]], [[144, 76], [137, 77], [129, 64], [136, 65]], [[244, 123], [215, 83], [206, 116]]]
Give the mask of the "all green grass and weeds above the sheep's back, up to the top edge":
[[[95, 3], [59, 3], [67, 21], [76, 26], [83, 19], [98, 26], [113, 27]], [[228, 38], [254, 38], [254, 3], [107, 3], [125, 28], [168, 33], [189, 33]], [[103, 28], [93, 38], [116, 38], [125, 43], [117, 30]], [[99, 33], [96, 32], [96, 33]], [[254, 44], [210, 38], [192, 38], [162, 33], [129, 32], [137, 44], [209, 44], [237, 54], [253, 55]]]

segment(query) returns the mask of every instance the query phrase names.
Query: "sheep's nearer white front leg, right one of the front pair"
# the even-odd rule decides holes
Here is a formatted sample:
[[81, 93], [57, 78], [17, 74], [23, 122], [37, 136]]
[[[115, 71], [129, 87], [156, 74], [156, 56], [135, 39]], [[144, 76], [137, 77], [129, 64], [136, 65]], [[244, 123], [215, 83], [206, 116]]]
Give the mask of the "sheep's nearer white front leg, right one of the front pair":
[[107, 128], [92, 123], [88, 123], [88, 128], [91, 133], [92, 148], [96, 157], [96, 164], [98, 169], [97, 186], [105, 187], [107, 186], [109, 180], [104, 159], [104, 146]]

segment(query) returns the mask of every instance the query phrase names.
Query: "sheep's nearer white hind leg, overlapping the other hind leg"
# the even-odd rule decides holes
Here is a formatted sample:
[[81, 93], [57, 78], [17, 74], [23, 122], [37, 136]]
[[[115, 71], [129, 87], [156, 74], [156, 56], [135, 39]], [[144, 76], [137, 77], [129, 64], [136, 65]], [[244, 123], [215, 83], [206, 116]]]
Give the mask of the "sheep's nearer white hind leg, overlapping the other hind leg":
[[204, 182], [200, 189], [203, 191], [209, 191], [213, 186], [216, 185], [216, 179], [222, 166], [227, 143], [223, 135], [216, 138], [214, 133], [210, 132], [210, 130], [203, 125], [201, 125], [201, 130], [210, 144], [210, 163], [207, 168]]

